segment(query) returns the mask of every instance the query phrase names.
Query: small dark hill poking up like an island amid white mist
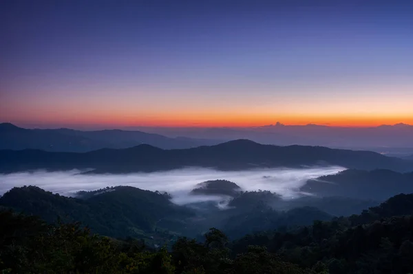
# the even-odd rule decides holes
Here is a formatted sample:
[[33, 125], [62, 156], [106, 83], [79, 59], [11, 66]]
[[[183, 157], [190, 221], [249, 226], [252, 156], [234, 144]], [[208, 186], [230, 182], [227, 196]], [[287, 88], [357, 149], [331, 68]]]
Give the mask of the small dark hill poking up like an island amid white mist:
[[238, 192], [240, 191], [241, 187], [239, 187], [236, 183], [226, 180], [214, 180], [198, 183], [198, 185], [195, 185], [195, 188], [191, 191], [191, 194], [215, 194], [233, 197], [237, 196]]

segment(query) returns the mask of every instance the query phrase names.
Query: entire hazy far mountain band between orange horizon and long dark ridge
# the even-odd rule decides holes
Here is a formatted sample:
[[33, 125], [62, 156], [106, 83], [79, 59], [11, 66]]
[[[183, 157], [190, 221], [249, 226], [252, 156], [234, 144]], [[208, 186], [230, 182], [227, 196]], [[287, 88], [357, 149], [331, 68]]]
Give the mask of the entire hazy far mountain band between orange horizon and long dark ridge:
[[234, 139], [260, 144], [328, 146], [371, 150], [395, 157], [413, 155], [413, 126], [395, 124], [368, 128], [281, 123], [243, 128], [128, 127], [126, 130], [26, 129], [0, 124], [0, 149], [25, 148], [59, 152], [87, 152], [100, 148], [130, 148], [149, 144], [163, 149], [211, 146]]

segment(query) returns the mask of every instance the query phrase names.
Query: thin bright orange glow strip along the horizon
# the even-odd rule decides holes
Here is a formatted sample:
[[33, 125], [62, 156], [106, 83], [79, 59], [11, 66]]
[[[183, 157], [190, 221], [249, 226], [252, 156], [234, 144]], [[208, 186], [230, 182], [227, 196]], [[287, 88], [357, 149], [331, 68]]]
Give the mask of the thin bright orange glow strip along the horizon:
[[133, 126], [148, 126], [148, 127], [248, 127], [248, 126], [265, 126], [280, 122], [286, 126], [304, 126], [306, 124], [317, 124], [324, 126], [335, 127], [374, 127], [394, 124], [411, 124], [413, 125], [413, 117], [322, 117], [322, 116], [310, 116], [310, 115], [277, 115], [274, 117], [262, 117], [259, 115], [251, 116], [235, 116], [224, 115], [220, 117], [203, 117], [189, 115], [189, 117], [145, 117], [142, 119], [136, 117], [74, 117], [72, 119], [66, 118], [59, 119], [17, 119], [15, 121], [10, 120], [12, 123], [17, 124], [59, 124], [64, 126], [107, 126], [107, 128], [121, 128], [121, 127], [133, 127]]

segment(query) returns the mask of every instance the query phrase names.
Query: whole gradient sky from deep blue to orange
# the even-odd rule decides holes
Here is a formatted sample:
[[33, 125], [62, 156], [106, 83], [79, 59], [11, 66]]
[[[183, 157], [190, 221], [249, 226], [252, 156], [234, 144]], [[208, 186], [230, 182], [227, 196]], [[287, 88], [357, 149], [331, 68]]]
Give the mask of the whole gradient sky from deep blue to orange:
[[0, 122], [413, 124], [413, 1], [0, 2]]

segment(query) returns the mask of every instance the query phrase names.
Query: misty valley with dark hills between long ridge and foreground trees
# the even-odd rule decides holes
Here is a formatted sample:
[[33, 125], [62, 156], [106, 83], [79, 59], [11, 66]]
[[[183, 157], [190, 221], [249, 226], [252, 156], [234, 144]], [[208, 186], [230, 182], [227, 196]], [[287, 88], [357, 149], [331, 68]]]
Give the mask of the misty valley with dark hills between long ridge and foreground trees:
[[[107, 236], [156, 242], [153, 237], [162, 231], [160, 242], [153, 243], [160, 245], [163, 233], [196, 238], [217, 227], [235, 239], [254, 231], [310, 225], [313, 220], [359, 214], [391, 196], [413, 192], [413, 172], [334, 165], [233, 171], [188, 167], [123, 174], [93, 171], [1, 174], [0, 205], [50, 222], [82, 220], [92, 231]], [[21, 195], [27, 200], [22, 201]], [[96, 207], [96, 201], [105, 205]], [[76, 209], [79, 206], [84, 209]], [[145, 218], [136, 219], [135, 214]], [[114, 227], [116, 223], [123, 225]]]

